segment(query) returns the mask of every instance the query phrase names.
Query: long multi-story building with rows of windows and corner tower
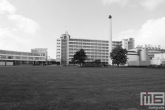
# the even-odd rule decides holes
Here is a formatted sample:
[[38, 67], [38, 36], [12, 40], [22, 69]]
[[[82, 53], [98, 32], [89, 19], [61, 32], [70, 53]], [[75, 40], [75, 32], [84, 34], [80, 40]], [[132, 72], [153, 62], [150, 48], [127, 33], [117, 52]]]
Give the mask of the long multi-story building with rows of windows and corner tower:
[[[122, 46], [123, 41], [113, 41], [112, 48], [120, 45]], [[128, 40], [128, 42], [130, 42]], [[131, 48], [128, 43], [127, 48]], [[132, 45], [132, 48], [134, 45]], [[59, 39], [57, 39], [57, 51], [56, 51], [56, 61], [61, 62], [61, 64], [71, 64], [71, 59], [76, 51], [79, 49], [84, 49], [88, 59], [86, 62], [92, 62], [94, 60], [101, 60], [102, 63], [108, 63], [110, 52], [109, 52], [109, 41], [108, 40], [92, 40], [92, 39], [76, 39], [71, 38], [68, 32], [62, 34]]]

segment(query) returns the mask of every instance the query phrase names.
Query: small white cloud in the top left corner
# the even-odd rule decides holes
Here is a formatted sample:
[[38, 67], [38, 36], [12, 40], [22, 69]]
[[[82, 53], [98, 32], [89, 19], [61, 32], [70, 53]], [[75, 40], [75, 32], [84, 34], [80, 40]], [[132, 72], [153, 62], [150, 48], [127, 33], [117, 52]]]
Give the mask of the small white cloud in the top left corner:
[[10, 13], [14, 14], [16, 11], [16, 8], [7, 0], [0, 0], [0, 13]]

